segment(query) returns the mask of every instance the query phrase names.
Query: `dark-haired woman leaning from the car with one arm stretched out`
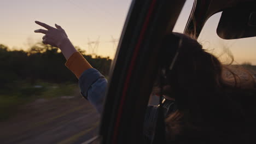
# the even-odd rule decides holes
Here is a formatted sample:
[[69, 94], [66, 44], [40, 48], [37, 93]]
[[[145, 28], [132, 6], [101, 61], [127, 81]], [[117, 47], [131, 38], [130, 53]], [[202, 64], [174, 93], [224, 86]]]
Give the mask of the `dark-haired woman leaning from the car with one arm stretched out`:
[[[101, 113], [107, 80], [75, 50], [60, 26], [55, 24], [54, 28], [36, 23], [48, 30], [34, 32], [45, 34], [44, 44], [60, 48], [67, 59], [67, 67], [79, 79], [82, 95]], [[176, 63], [165, 75], [165, 97], [175, 99], [177, 105], [174, 109], [176, 106], [170, 100], [166, 106], [167, 140], [172, 143], [254, 141], [254, 80], [243, 82], [216, 57], [203, 50], [196, 40], [184, 34], [173, 34], [181, 39], [181, 44]], [[224, 79], [226, 73], [233, 75], [233, 79]], [[149, 106], [146, 117], [154, 116], [156, 109]], [[144, 123], [144, 135], [149, 140], [154, 137], [154, 131], [149, 130], [149, 125], [155, 125], [154, 122], [153, 118]]]

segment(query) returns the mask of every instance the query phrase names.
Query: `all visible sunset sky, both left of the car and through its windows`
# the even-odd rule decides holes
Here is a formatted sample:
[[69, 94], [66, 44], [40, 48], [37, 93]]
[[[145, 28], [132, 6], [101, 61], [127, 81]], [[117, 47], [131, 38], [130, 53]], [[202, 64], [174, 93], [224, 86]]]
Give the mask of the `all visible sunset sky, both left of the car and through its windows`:
[[[42, 40], [43, 34], [34, 33], [41, 28], [34, 23], [42, 21], [54, 26], [62, 26], [75, 46], [88, 53], [88, 38], [95, 41], [100, 37], [98, 55], [115, 55], [112, 40], [119, 39], [131, 0], [1, 0], [0, 9], [0, 44], [15, 49], [28, 49]], [[193, 0], [187, 0], [179, 16], [174, 31], [183, 32], [188, 20]], [[238, 63], [252, 62], [256, 64], [256, 40], [246, 38], [239, 40], [223, 40], [218, 38], [216, 28], [220, 14], [213, 15], [200, 34], [199, 41], [205, 49], [219, 55], [223, 47], [229, 47]], [[92, 45], [94, 46], [94, 45]]]

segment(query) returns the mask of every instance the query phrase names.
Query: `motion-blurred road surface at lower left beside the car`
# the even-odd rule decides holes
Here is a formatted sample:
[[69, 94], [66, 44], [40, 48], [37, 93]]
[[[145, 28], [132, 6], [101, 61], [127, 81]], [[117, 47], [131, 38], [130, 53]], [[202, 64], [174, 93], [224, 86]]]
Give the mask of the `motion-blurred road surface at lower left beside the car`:
[[97, 135], [100, 115], [77, 93], [38, 99], [0, 122], [0, 143], [83, 143]]

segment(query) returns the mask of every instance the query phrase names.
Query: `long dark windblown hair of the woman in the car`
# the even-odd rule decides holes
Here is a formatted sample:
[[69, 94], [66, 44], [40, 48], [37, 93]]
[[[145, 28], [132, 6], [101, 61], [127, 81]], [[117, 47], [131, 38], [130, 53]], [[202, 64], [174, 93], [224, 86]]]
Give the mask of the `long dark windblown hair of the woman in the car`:
[[[173, 33], [182, 40], [179, 55], [167, 75], [164, 94], [176, 100], [178, 110], [166, 121], [172, 143], [251, 142], [256, 134], [254, 78], [235, 73], [197, 40]], [[253, 136], [252, 136], [253, 134]]]

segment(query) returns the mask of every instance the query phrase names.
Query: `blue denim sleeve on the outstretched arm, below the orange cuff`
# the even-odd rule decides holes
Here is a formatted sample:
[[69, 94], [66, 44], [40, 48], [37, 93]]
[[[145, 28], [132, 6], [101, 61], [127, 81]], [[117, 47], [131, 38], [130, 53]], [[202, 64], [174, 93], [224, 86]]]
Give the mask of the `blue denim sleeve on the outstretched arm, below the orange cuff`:
[[103, 110], [107, 83], [107, 79], [94, 68], [85, 70], [79, 77], [81, 94], [95, 106], [99, 113], [102, 113]]

